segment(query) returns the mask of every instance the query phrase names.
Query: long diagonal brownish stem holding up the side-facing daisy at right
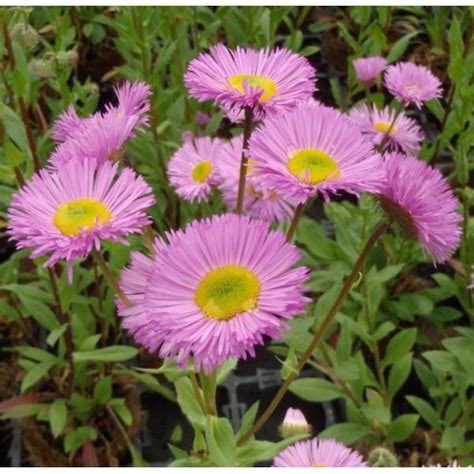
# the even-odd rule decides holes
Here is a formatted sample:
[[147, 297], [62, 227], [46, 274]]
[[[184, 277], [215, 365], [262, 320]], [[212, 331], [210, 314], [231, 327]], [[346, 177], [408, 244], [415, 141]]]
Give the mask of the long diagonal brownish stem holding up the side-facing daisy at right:
[[262, 426], [267, 422], [270, 416], [273, 414], [278, 404], [280, 403], [281, 399], [283, 398], [286, 391], [288, 390], [288, 387], [290, 386], [291, 382], [293, 382], [293, 380], [297, 377], [297, 375], [299, 374], [301, 369], [305, 366], [306, 362], [311, 357], [315, 349], [323, 340], [324, 336], [326, 335], [327, 330], [329, 329], [331, 325], [331, 322], [335, 318], [342, 303], [347, 298], [352, 288], [353, 283], [356, 281], [357, 276], [359, 275], [359, 272], [363, 268], [365, 259], [369, 255], [370, 250], [373, 248], [377, 240], [382, 236], [382, 234], [384, 234], [384, 232], [387, 229], [388, 229], [388, 224], [382, 223], [374, 230], [373, 234], [369, 237], [356, 263], [354, 264], [354, 267], [352, 268], [350, 275], [348, 276], [346, 282], [344, 283], [344, 286], [341, 288], [341, 291], [339, 292], [339, 295], [337, 296], [336, 301], [334, 301], [333, 305], [331, 306], [331, 309], [328, 311], [326, 317], [321, 323], [321, 326], [319, 326], [318, 330], [314, 334], [313, 340], [311, 341], [306, 351], [301, 356], [301, 359], [298, 362], [298, 365], [296, 366], [296, 370], [294, 372], [291, 372], [288, 378], [283, 382], [280, 389], [274, 396], [273, 400], [270, 402], [270, 404], [268, 405], [266, 410], [263, 412], [263, 414], [260, 416], [260, 418], [256, 421], [256, 423], [252, 426], [252, 428], [239, 438], [239, 440], [237, 441], [238, 446], [241, 446], [245, 441], [247, 441], [255, 433], [257, 433], [260, 430], [260, 428], [262, 428]]

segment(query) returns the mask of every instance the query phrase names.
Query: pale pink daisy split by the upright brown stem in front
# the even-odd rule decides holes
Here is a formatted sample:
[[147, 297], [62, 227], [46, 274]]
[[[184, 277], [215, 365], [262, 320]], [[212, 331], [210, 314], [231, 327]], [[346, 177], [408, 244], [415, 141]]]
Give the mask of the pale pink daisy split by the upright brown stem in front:
[[[216, 163], [222, 199], [227, 208], [232, 211], [237, 206], [242, 145], [242, 136], [235, 137], [224, 144], [221, 156]], [[249, 216], [269, 222], [274, 220], [282, 222], [290, 219], [294, 214], [293, 207], [282, 199], [278, 192], [261, 186], [258, 178], [254, 175], [252, 162], [249, 163], [246, 180], [244, 211]]]

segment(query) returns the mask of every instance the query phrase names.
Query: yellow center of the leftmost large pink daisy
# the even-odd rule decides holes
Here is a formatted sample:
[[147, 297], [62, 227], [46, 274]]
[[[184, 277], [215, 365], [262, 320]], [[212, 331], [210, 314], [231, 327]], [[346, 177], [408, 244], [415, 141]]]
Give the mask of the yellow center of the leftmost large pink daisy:
[[109, 210], [101, 202], [91, 198], [62, 203], [53, 218], [53, 224], [64, 235], [76, 235], [97, 223], [105, 224], [109, 221]]

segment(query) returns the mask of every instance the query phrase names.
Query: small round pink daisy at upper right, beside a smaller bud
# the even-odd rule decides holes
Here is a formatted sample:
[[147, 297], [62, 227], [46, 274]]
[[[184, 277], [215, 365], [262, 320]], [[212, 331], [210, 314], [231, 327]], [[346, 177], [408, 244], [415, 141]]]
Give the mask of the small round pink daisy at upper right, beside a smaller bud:
[[405, 105], [421, 109], [431, 99], [442, 96], [440, 80], [429, 69], [414, 63], [397, 63], [385, 71], [384, 84], [390, 94]]

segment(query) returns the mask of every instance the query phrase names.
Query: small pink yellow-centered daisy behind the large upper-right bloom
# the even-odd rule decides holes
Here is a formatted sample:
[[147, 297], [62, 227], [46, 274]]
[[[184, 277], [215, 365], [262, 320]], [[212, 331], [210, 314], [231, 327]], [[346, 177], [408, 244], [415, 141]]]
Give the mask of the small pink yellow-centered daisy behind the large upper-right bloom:
[[424, 133], [416, 121], [403, 112], [400, 112], [393, 122], [395, 114], [389, 107], [378, 110], [375, 106], [362, 104], [351, 110], [349, 118], [375, 146], [381, 144], [390, 130], [387, 140], [390, 151], [400, 150], [409, 155], [416, 155], [421, 148], [420, 142], [425, 138]]

